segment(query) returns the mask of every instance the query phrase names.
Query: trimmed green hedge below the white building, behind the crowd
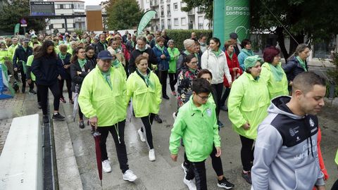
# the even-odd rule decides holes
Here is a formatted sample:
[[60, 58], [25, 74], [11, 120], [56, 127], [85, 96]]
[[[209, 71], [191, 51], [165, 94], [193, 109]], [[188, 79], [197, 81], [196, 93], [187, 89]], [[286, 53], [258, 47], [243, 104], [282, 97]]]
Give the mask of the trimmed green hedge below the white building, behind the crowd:
[[165, 30], [167, 31], [168, 37], [174, 40], [175, 46], [182, 51], [184, 49], [183, 41], [184, 39], [189, 39], [191, 37], [192, 32], [196, 33], [196, 37], [198, 38], [199, 35], [204, 34], [208, 39], [213, 37], [213, 30]]

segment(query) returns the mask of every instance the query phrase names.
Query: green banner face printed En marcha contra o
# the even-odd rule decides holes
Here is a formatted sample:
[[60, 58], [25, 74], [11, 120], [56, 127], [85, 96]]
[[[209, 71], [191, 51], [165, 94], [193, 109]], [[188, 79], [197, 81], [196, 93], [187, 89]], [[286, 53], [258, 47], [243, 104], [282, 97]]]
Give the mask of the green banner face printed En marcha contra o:
[[225, 40], [231, 32], [238, 35], [238, 41], [249, 38], [250, 27], [250, 1], [225, 0]]

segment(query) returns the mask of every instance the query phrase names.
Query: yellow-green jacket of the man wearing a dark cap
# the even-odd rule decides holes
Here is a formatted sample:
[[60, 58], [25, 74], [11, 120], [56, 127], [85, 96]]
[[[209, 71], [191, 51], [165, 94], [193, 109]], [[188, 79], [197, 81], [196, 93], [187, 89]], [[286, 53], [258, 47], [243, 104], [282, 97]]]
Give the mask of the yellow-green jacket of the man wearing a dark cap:
[[99, 127], [108, 127], [125, 120], [127, 102], [125, 101], [125, 79], [118, 70], [111, 69], [111, 84], [99, 70], [99, 66], [88, 73], [82, 82], [79, 105], [87, 118], [98, 118]]

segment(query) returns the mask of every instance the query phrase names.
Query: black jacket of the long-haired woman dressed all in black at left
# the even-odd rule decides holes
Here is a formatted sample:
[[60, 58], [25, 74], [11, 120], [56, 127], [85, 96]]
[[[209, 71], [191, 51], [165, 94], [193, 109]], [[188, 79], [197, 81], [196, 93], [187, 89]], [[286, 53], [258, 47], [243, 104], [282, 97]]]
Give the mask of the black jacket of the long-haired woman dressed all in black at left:
[[36, 83], [39, 85], [49, 86], [58, 82], [59, 70], [58, 58], [52, 56], [43, 56], [34, 58], [32, 63], [32, 72], [36, 77]]

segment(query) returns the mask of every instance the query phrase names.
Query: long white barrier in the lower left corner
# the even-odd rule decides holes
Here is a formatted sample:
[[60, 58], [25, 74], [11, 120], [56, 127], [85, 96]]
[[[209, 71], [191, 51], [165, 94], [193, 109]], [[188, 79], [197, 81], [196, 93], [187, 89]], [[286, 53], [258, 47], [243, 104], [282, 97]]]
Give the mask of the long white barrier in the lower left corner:
[[0, 156], [0, 189], [43, 189], [39, 115], [14, 118]]

